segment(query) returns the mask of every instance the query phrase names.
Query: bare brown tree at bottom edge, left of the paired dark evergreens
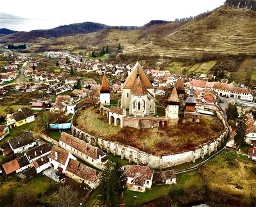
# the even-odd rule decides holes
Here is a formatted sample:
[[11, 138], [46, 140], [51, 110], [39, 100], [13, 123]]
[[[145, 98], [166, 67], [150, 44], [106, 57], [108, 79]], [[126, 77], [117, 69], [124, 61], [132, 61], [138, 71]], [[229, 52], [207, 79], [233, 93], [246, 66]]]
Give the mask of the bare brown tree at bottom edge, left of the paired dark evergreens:
[[53, 207], [78, 206], [78, 192], [73, 190], [70, 185], [63, 185], [53, 194], [51, 205]]

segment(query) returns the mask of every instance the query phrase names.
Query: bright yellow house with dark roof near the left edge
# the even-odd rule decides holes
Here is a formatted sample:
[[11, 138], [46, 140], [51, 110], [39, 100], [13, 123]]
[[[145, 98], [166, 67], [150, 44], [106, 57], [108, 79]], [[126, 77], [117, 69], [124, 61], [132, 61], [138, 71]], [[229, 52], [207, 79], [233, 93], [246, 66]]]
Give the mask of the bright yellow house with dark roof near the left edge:
[[17, 112], [6, 116], [7, 125], [10, 126], [11, 129], [33, 121], [35, 121], [35, 116], [33, 112], [26, 107], [21, 107]]

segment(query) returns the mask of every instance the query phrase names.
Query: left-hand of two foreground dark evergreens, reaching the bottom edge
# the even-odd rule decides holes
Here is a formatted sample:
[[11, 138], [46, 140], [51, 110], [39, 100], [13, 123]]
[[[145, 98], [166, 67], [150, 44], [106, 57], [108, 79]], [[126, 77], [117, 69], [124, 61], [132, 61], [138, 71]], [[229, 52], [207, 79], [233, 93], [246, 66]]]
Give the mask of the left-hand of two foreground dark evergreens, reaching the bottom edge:
[[106, 207], [117, 207], [118, 203], [118, 195], [115, 189], [115, 183], [113, 180], [111, 168], [109, 166], [109, 162], [106, 163], [105, 168], [103, 169], [102, 175], [100, 176], [100, 184], [99, 184], [99, 206]]

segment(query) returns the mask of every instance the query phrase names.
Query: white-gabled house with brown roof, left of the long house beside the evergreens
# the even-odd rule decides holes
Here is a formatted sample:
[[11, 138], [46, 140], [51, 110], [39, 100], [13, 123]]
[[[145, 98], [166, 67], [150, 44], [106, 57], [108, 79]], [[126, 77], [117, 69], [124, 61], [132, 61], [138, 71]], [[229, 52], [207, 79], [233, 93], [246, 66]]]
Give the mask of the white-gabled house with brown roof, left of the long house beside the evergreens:
[[52, 147], [48, 158], [50, 167], [57, 169], [60, 174], [66, 173], [66, 167], [70, 159], [76, 160], [75, 156], [56, 145]]

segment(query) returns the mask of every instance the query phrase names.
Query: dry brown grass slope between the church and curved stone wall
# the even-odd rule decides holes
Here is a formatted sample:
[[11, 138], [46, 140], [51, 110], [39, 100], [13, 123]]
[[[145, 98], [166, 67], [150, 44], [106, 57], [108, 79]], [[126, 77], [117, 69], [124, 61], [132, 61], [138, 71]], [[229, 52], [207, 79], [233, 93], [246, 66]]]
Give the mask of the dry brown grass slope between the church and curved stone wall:
[[163, 129], [134, 129], [114, 126], [98, 112], [98, 108], [84, 108], [73, 120], [78, 129], [105, 140], [118, 141], [136, 147], [146, 153], [167, 155], [189, 151], [219, 137], [224, 126], [217, 117], [200, 116], [199, 124], [182, 124]]

